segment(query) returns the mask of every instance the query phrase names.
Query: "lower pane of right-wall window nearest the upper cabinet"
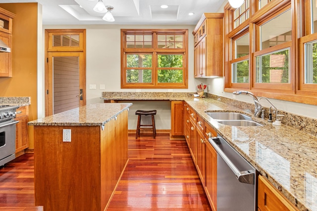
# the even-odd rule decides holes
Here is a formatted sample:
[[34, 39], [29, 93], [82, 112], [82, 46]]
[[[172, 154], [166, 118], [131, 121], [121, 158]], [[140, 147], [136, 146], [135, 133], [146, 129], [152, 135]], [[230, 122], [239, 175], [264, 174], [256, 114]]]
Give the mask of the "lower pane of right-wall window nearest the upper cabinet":
[[232, 64], [232, 83], [249, 83], [249, 60]]

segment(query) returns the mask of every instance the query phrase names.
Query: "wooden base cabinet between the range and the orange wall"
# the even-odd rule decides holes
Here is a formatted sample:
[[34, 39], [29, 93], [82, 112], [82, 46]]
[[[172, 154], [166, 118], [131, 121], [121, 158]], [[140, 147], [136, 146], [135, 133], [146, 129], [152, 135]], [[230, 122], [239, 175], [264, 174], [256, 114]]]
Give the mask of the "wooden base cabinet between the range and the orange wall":
[[[29, 135], [28, 135], [28, 115], [29, 106], [21, 106], [16, 110], [15, 120], [19, 121], [16, 124], [15, 135], [15, 153], [19, 153], [28, 147]], [[23, 152], [21, 153], [23, 154]]]

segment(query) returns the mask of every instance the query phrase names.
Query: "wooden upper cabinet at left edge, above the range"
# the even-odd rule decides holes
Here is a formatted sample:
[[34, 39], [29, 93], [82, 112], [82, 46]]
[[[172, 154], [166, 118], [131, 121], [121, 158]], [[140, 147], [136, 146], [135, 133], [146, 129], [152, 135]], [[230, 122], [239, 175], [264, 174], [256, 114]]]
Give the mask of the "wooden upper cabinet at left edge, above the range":
[[[12, 51], [12, 19], [14, 14], [0, 8], [0, 40]], [[0, 77], [12, 77], [12, 53], [0, 52]]]

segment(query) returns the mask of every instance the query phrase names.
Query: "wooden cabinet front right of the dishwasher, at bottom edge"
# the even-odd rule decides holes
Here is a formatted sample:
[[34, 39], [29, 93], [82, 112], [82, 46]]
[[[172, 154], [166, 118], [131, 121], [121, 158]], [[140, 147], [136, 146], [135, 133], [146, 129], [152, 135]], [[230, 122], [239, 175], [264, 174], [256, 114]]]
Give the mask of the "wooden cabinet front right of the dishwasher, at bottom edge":
[[264, 176], [258, 178], [259, 211], [298, 211]]

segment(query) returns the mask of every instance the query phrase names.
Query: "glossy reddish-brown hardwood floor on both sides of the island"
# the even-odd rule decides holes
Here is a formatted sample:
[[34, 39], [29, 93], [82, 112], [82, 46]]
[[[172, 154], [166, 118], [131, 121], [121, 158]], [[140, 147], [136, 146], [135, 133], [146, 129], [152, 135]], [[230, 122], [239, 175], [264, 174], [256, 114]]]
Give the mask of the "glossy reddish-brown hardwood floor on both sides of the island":
[[[37, 211], [33, 180], [33, 154], [1, 168], [0, 211]], [[132, 210], [211, 211], [185, 140], [129, 134], [129, 162], [107, 211]]]

